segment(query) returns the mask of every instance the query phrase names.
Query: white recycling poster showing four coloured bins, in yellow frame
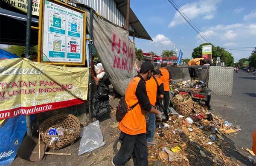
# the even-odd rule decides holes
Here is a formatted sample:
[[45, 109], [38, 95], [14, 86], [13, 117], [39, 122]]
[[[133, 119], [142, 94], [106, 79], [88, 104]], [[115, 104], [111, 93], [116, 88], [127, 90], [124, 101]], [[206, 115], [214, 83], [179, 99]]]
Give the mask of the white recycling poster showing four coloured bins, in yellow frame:
[[84, 17], [45, 0], [43, 62], [83, 62]]

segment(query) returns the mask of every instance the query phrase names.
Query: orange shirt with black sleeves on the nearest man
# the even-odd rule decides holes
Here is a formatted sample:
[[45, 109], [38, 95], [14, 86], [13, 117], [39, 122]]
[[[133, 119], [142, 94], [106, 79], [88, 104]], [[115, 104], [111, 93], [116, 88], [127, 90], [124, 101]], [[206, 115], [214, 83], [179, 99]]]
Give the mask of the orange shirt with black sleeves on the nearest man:
[[[139, 90], [137, 90], [137, 87]], [[144, 104], [145, 109], [147, 109], [146, 111], [150, 111], [152, 107], [147, 97], [145, 83], [141, 80], [140, 77], [136, 76], [128, 84], [128, 87], [125, 91], [125, 101], [128, 108], [132, 107], [139, 101], [137, 98], [138, 94], [136, 95], [137, 92], [143, 96], [142, 100], [144, 103], [137, 104], [136, 107], [134, 107], [133, 110], [130, 110], [124, 116], [122, 121], [119, 122], [119, 129], [129, 135], [146, 133], [145, 111], [142, 108], [142, 104]]]

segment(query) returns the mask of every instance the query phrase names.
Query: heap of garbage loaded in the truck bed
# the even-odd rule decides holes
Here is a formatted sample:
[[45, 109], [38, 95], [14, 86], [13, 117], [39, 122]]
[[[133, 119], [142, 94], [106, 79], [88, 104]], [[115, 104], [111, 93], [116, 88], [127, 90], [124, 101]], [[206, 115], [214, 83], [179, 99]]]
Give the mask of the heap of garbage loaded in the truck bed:
[[202, 90], [204, 87], [207, 87], [207, 84], [204, 81], [200, 81], [200, 80], [192, 80], [192, 81], [186, 80], [186, 81], [172, 82], [172, 84], [170, 85], [171, 90], [184, 88], [194, 92], [198, 92]]

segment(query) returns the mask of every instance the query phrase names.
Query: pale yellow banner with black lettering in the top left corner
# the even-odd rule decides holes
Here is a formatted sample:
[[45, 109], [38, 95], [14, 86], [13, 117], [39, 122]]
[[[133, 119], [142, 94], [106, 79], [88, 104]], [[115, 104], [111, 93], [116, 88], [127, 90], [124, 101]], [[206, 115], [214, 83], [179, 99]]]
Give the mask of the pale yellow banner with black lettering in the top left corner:
[[[3, 0], [3, 2], [27, 13], [28, 0]], [[39, 3], [40, 0], [32, 0], [32, 15], [39, 16]]]

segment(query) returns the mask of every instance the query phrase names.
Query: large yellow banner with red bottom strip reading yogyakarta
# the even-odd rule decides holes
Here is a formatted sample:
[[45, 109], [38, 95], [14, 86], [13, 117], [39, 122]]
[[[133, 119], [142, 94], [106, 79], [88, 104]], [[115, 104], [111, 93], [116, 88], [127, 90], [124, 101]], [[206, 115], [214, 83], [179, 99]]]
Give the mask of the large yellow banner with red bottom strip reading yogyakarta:
[[88, 76], [88, 68], [0, 60], [0, 120], [84, 103]]

